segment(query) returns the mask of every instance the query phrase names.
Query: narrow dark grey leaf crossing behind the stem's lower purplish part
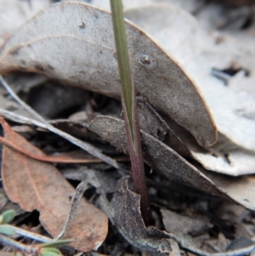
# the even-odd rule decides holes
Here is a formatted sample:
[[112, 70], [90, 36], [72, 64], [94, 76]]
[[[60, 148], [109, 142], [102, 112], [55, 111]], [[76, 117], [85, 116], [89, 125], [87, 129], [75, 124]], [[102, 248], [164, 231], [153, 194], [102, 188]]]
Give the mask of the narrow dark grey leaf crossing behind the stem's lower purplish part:
[[[127, 138], [124, 122], [114, 117], [98, 116], [89, 123], [88, 129], [127, 152]], [[141, 131], [144, 159], [151, 167], [161, 171], [169, 179], [176, 179], [184, 185], [205, 191], [215, 196], [229, 198], [210, 179], [187, 162], [182, 156], [163, 144], [160, 140]]]

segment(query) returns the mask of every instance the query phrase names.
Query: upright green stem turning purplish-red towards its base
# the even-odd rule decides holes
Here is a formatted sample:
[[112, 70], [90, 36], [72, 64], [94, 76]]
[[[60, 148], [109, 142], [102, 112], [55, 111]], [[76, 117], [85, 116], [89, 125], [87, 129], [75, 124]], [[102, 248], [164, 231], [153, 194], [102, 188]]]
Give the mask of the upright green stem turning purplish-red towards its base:
[[127, 132], [133, 181], [136, 192], [141, 196], [140, 208], [144, 223], [145, 225], [149, 225], [152, 221], [152, 216], [145, 182], [137, 105], [128, 58], [122, 0], [111, 0], [111, 14], [116, 43], [116, 55], [122, 83], [122, 108]]

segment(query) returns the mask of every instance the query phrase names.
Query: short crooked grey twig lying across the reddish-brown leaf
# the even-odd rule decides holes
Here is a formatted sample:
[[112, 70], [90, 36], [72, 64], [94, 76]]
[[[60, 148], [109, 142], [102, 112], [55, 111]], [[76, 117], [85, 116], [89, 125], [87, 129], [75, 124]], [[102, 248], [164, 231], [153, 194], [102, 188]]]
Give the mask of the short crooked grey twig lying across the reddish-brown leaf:
[[74, 218], [74, 216], [77, 213], [77, 208], [82, 200], [82, 196], [83, 196], [84, 192], [86, 191], [86, 189], [88, 189], [88, 183], [87, 183], [87, 181], [82, 180], [82, 182], [79, 185], [77, 185], [77, 190], [76, 190], [75, 196], [72, 196], [72, 198], [71, 198], [71, 207], [70, 207], [69, 213], [65, 219], [65, 224], [61, 228], [59, 235], [54, 237], [54, 241], [59, 240], [61, 237], [65, 236], [66, 231], [69, 229], [69, 227], [71, 225], [72, 219]]

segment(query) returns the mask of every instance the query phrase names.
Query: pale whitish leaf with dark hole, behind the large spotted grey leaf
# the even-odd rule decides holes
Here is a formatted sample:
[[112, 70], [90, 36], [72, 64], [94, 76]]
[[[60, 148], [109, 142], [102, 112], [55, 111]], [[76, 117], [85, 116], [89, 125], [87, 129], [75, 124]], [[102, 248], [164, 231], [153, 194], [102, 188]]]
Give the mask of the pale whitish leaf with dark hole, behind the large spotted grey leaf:
[[[246, 63], [253, 63], [254, 40], [251, 36], [243, 31], [235, 39], [219, 31], [203, 31], [195, 25], [190, 14], [166, 4], [131, 9], [125, 16], [150, 33], [184, 66], [205, 96], [218, 131], [236, 145], [255, 151], [255, 121], [250, 117], [255, 113], [254, 100], [235, 94], [211, 75], [213, 67], [228, 68], [233, 61], [244, 68]], [[173, 48], [173, 45], [178, 47]], [[249, 64], [247, 69], [252, 70], [252, 66], [254, 64]]]

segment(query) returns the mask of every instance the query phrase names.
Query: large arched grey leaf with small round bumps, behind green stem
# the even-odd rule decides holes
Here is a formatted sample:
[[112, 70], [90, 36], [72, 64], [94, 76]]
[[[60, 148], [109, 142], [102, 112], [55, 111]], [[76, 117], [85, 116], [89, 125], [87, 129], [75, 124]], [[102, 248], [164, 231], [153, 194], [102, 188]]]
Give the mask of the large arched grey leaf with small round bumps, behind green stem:
[[[110, 13], [86, 4], [54, 4], [6, 41], [0, 49], [0, 73], [39, 72], [120, 99], [111, 22]], [[216, 128], [195, 83], [139, 27], [126, 20], [126, 29], [137, 92], [189, 130], [200, 145], [212, 145]]]

